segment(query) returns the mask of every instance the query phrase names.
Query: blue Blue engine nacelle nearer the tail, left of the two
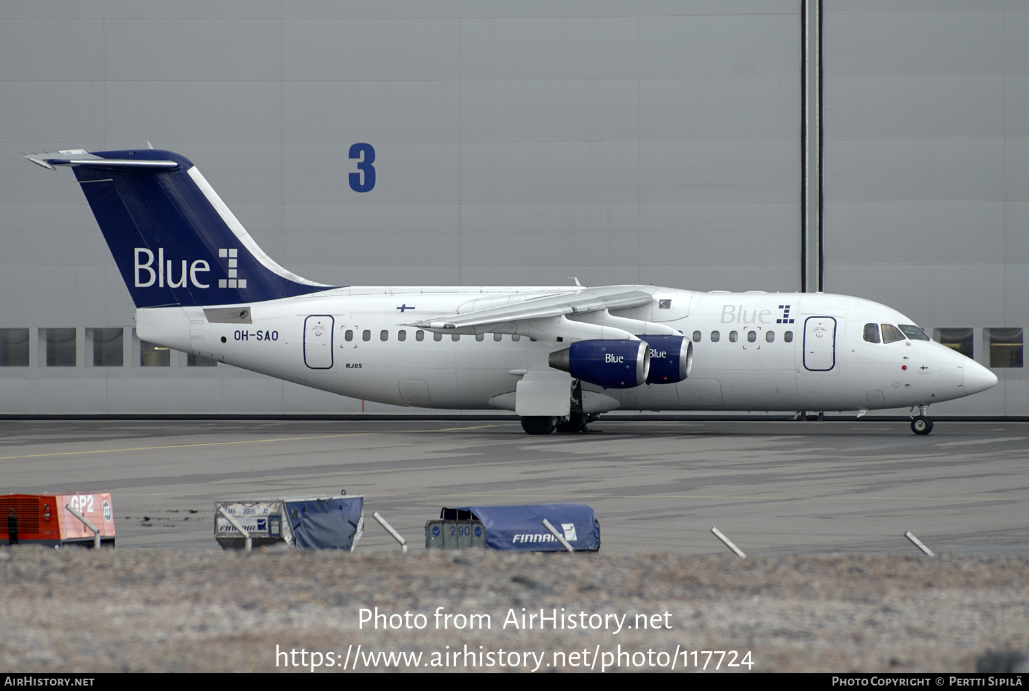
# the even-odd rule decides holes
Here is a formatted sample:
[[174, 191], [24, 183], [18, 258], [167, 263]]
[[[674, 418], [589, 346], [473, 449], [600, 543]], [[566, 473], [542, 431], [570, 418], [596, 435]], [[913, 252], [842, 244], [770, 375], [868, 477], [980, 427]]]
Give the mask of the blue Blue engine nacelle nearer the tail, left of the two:
[[650, 348], [645, 340], [579, 340], [551, 353], [549, 365], [605, 389], [632, 389], [646, 381]]

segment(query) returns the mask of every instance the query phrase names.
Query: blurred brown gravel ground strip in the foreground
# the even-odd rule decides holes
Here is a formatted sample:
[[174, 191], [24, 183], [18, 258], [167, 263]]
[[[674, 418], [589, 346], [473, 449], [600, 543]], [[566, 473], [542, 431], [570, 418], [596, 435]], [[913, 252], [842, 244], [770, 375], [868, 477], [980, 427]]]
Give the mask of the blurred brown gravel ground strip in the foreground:
[[[445, 656], [467, 646], [494, 654], [491, 671], [537, 664], [539, 671], [582, 671], [573, 662], [583, 658], [587, 665], [597, 658], [598, 671], [607, 663], [614, 665], [608, 671], [662, 671], [678, 647], [676, 670], [683, 662], [695, 670], [691, 651], [735, 650], [737, 662], [751, 652], [752, 671], [958, 672], [974, 671], [987, 650], [1029, 649], [1025, 558], [13, 546], [0, 547], [0, 669], [11, 672], [299, 671], [293, 662], [310, 668], [318, 660], [310, 651], [321, 654], [316, 671], [339, 671], [358, 645], [365, 656], [421, 652], [423, 671], [455, 670]], [[401, 615], [392, 620], [401, 628], [384, 628], [382, 620], [378, 629], [370, 622], [359, 628], [361, 608], [376, 607]], [[443, 615], [488, 614], [491, 627], [458, 629], [458, 618], [436, 628], [439, 607]], [[547, 621], [540, 630], [538, 618], [532, 629], [504, 626], [509, 611], [521, 624], [522, 608], [547, 616], [557, 608], [559, 628]], [[400, 623], [404, 613], [412, 628]], [[560, 616], [572, 613], [586, 630], [560, 628]], [[608, 627], [589, 628], [591, 615]], [[625, 627], [615, 632], [606, 615], [628, 615]], [[643, 621], [637, 615], [646, 615], [647, 628], [628, 628]], [[642, 655], [618, 658], [619, 645]], [[277, 646], [306, 652], [290, 661], [276, 656]], [[526, 666], [530, 651], [538, 657], [528, 656]], [[712, 658], [708, 670], [719, 655]], [[731, 658], [721, 670], [748, 670], [726, 667]], [[445, 660], [451, 666], [434, 666]], [[468, 664], [457, 669], [475, 669]], [[411, 667], [380, 660], [372, 668]]]

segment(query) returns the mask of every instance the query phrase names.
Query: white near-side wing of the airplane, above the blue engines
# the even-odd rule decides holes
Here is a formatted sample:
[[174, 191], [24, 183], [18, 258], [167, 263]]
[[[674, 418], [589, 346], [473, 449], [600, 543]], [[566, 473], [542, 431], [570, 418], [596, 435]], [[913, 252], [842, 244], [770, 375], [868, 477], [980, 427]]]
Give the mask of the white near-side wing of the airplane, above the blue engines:
[[511, 333], [564, 342], [587, 338], [637, 339], [637, 333], [678, 334], [671, 327], [611, 315], [648, 304], [653, 295], [626, 286], [587, 288], [404, 326], [440, 333]]

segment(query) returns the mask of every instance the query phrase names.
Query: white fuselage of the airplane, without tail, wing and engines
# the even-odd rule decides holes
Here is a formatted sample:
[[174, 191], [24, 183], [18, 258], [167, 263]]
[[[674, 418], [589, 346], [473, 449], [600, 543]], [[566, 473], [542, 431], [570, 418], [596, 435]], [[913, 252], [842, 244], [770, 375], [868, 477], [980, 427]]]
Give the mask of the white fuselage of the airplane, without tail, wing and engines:
[[[519, 378], [548, 369], [548, 355], [562, 346], [519, 335], [516, 325], [514, 333], [477, 336], [404, 325], [575, 290], [338, 288], [241, 304], [246, 319], [235, 322], [212, 322], [203, 306], [143, 307], [137, 310], [137, 332], [159, 346], [352, 398], [425, 408], [514, 409]], [[982, 365], [931, 340], [868, 342], [866, 324], [914, 322], [862, 298], [653, 286], [626, 290], [654, 299], [610, 314], [657, 322], [691, 338], [693, 369], [677, 384], [615, 390], [583, 383], [583, 392], [593, 392], [584, 400], [587, 412], [897, 408], [960, 398], [997, 380]], [[657, 306], [662, 300], [668, 308]], [[222, 314], [233, 310], [218, 305]]]

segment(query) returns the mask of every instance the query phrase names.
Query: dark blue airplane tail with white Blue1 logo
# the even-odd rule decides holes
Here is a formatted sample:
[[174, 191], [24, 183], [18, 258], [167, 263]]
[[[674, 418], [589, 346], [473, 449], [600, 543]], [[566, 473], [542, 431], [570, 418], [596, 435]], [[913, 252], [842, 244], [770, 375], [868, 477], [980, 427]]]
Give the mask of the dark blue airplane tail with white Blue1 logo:
[[72, 168], [137, 307], [237, 304], [331, 288], [264, 254], [177, 153], [75, 149], [25, 157]]

